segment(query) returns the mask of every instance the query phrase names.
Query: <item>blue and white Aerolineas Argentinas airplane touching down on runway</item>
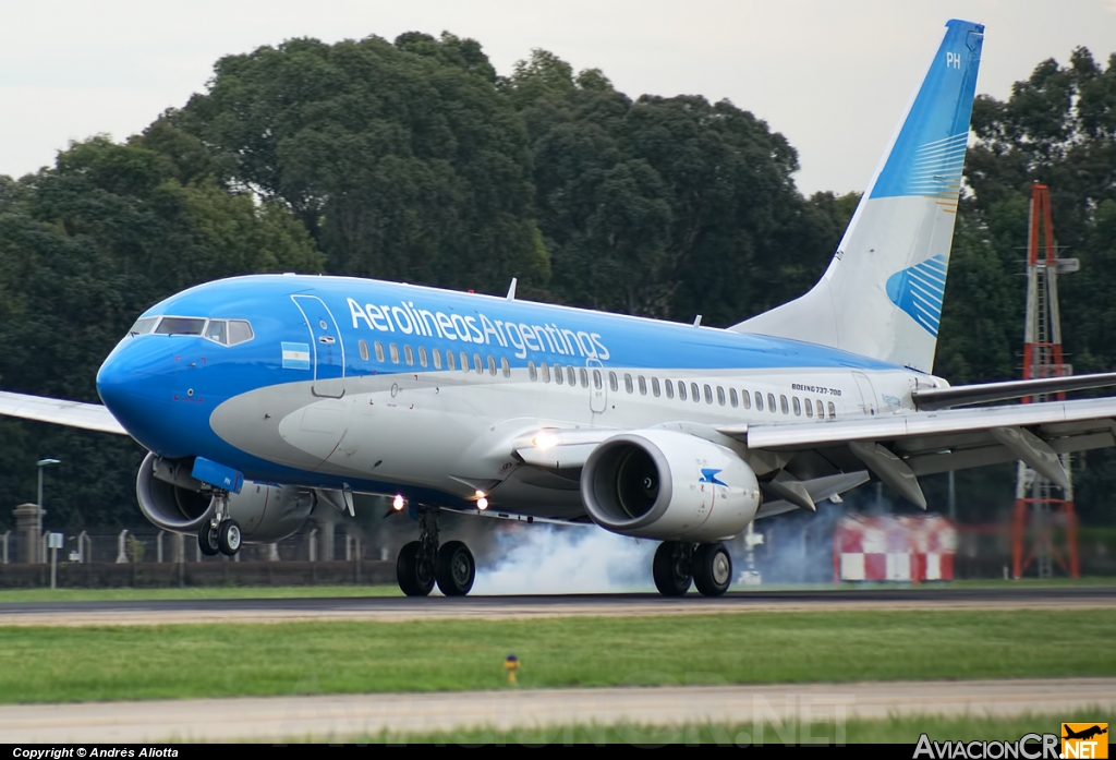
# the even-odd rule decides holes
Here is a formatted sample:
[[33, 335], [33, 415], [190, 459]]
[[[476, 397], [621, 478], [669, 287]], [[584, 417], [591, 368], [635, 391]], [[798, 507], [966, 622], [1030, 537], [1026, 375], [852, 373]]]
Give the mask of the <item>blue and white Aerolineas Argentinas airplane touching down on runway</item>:
[[660, 540], [660, 593], [719, 596], [725, 540], [872, 479], [923, 508], [918, 478], [962, 468], [1022, 460], [1065, 487], [1060, 454], [1116, 444], [1116, 401], [997, 402], [1116, 374], [932, 374], [983, 31], [946, 23], [818, 283], [728, 329], [529, 302], [514, 280], [235, 277], [141, 315], [99, 369], [103, 406], [2, 393], [0, 413], [131, 435], [144, 517], [206, 555], [385, 494], [416, 522], [411, 596], [472, 587], [442, 511]]

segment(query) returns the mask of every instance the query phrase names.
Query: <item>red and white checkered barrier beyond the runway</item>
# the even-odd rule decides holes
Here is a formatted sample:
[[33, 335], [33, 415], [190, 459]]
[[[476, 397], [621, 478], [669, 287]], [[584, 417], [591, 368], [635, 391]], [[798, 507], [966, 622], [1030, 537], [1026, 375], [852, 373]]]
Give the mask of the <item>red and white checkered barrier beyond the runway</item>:
[[834, 581], [953, 580], [956, 550], [943, 517], [846, 517], [834, 531]]

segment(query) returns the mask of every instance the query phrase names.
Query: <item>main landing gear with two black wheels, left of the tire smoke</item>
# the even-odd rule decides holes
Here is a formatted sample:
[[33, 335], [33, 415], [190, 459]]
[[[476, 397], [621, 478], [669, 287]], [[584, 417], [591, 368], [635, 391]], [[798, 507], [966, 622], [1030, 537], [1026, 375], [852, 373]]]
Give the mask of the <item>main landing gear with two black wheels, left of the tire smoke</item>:
[[426, 596], [434, 584], [446, 596], [464, 596], [473, 587], [477, 562], [461, 541], [437, 545], [437, 509], [419, 508], [419, 540], [405, 543], [395, 577], [407, 596]]

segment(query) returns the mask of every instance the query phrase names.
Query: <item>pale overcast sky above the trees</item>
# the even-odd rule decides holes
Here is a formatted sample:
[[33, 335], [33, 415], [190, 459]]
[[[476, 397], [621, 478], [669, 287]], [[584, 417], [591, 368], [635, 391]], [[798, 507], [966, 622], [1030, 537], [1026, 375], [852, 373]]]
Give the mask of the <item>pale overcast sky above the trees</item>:
[[943, 25], [987, 26], [978, 93], [1085, 46], [1116, 52], [1116, 0], [39, 0], [0, 21], [0, 174], [70, 141], [125, 140], [204, 92], [214, 61], [292, 37], [450, 31], [499, 74], [543, 48], [632, 97], [728, 98], [798, 150], [805, 193], [863, 190]]

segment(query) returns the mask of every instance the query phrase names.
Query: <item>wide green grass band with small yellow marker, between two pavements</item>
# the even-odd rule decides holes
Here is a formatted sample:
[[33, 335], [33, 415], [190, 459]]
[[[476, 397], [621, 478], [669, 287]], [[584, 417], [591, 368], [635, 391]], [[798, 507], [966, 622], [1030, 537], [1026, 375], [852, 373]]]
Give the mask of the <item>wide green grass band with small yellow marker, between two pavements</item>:
[[1116, 610], [0, 627], [0, 702], [1116, 674]]

